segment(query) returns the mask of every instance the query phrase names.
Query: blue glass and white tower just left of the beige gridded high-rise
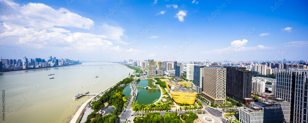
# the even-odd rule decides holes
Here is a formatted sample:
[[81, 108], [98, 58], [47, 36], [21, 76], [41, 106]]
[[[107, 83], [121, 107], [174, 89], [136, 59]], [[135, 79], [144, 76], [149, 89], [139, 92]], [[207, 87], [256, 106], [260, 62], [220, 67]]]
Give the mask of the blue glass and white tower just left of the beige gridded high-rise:
[[193, 66], [193, 90], [201, 93], [203, 91], [203, 81], [204, 81], [204, 65], [194, 65]]

